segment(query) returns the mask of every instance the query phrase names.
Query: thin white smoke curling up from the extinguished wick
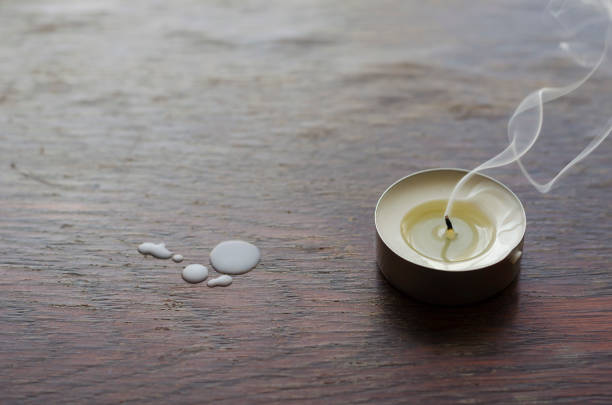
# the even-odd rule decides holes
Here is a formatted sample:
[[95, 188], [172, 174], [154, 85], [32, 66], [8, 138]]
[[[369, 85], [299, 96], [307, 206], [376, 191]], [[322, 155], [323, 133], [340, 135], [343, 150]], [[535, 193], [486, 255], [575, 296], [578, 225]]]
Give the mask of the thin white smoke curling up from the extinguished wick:
[[600, 69], [607, 59], [612, 34], [612, 0], [552, 0], [548, 5], [548, 10], [561, 25], [566, 29], [571, 29], [573, 33], [584, 31], [603, 22], [603, 31], [605, 32], [603, 50], [598, 58], [592, 58], [589, 52], [582, 49], [579, 44], [572, 46], [567, 42], [561, 43], [561, 49], [567, 51], [578, 64], [590, 68], [589, 73], [582, 79], [565, 87], [545, 87], [525, 97], [508, 121], [509, 145], [497, 156], [463, 176], [449, 197], [444, 215], [452, 215], [452, 207], [457, 193], [472, 175], [513, 162], [518, 163], [521, 172], [538, 191], [547, 193], [570, 168], [587, 157], [612, 132], [611, 118], [603, 127], [597, 128], [593, 132], [594, 137], [591, 142], [547, 183], [539, 183], [534, 180], [521, 162], [521, 158], [533, 147], [542, 131], [544, 104], [572, 93]]

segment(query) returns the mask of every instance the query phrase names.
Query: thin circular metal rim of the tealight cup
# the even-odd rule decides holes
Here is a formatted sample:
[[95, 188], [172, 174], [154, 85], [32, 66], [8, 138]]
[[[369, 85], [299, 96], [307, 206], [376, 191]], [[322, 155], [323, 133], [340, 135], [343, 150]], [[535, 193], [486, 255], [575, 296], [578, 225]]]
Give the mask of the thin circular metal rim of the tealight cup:
[[[413, 261], [411, 261], [410, 259], [405, 258], [404, 256], [402, 256], [401, 254], [399, 254], [398, 252], [396, 252], [391, 246], [389, 246], [389, 244], [383, 239], [382, 234], [380, 232], [380, 228], [378, 227], [378, 208], [380, 206], [380, 203], [382, 201], [382, 199], [387, 195], [387, 193], [393, 188], [395, 187], [397, 184], [401, 183], [402, 181], [406, 180], [409, 177], [414, 177], [417, 176], [419, 174], [423, 174], [423, 173], [428, 173], [428, 172], [440, 172], [440, 171], [454, 171], [454, 172], [463, 172], [465, 174], [468, 174], [470, 172], [470, 170], [466, 170], [466, 169], [459, 169], [459, 168], [454, 168], [454, 167], [439, 167], [439, 168], [431, 168], [431, 169], [424, 169], [424, 170], [419, 170], [418, 172], [414, 172], [412, 174], [409, 174], [407, 176], [402, 177], [401, 179], [393, 182], [393, 184], [391, 184], [389, 187], [387, 187], [385, 189], [385, 191], [380, 195], [380, 197], [378, 198], [378, 201], [376, 202], [376, 208], [374, 209], [374, 226], [376, 227], [376, 233], [378, 234], [378, 237], [380, 238], [380, 240], [386, 245], [386, 247], [391, 250], [395, 255], [397, 255], [398, 257], [402, 258], [403, 260], [410, 262], [411, 264], [415, 265], [415, 266], [419, 266], [419, 267], [423, 267], [426, 268], [427, 270], [435, 270], [435, 271], [441, 271], [441, 272], [449, 272], [449, 273], [463, 273], [463, 272], [471, 272], [471, 271], [478, 271], [478, 270], [483, 270], [486, 269], [488, 267], [491, 266], [495, 266], [496, 264], [500, 263], [501, 261], [505, 260], [510, 254], [512, 254], [513, 250], [515, 248], [512, 248], [507, 255], [503, 256], [502, 259], [496, 261], [495, 263], [492, 264], [485, 264], [485, 265], [481, 265], [478, 267], [470, 267], [467, 269], [455, 269], [455, 270], [446, 270], [446, 269], [438, 269], [435, 267], [431, 267], [428, 266], [426, 264], [422, 264], [422, 263], [415, 263]], [[475, 176], [482, 176], [488, 180], [493, 181], [494, 183], [497, 183], [498, 185], [500, 185], [502, 188], [504, 188], [506, 191], [508, 191], [513, 197], [514, 199], [518, 202], [519, 207], [521, 207], [521, 214], [523, 216], [523, 223], [525, 224], [523, 226], [523, 232], [521, 234], [521, 238], [519, 239], [519, 242], [517, 243], [518, 245], [520, 245], [520, 242], [522, 240], [524, 240], [525, 238], [525, 232], [527, 231], [527, 215], [525, 213], [525, 207], [523, 206], [522, 201], [520, 200], [520, 198], [518, 198], [518, 196], [516, 194], [514, 194], [514, 192], [512, 190], [510, 190], [510, 188], [508, 186], [506, 186], [504, 183], [500, 182], [499, 180], [494, 179], [491, 176], [488, 176], [486, 174], [482, 174], [482, 173], [474, 173]]]

